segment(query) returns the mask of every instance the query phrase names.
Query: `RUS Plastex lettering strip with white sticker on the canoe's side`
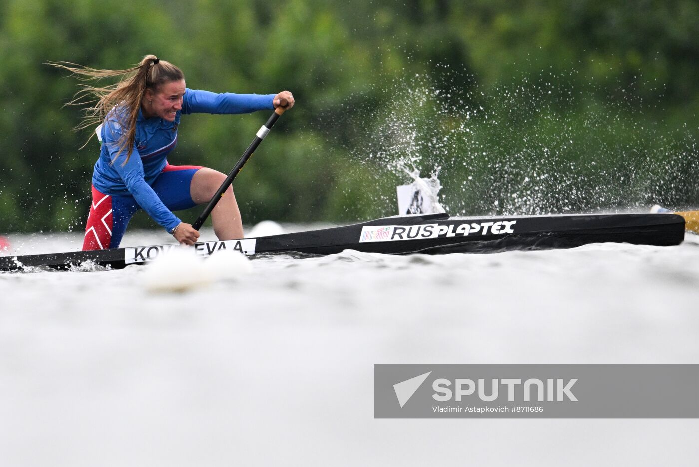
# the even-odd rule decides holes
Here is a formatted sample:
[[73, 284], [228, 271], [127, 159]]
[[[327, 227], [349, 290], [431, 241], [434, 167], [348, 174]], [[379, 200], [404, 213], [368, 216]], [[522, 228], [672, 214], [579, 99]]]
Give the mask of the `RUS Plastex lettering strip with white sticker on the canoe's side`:
[[516, 220], [473, 222], [469, 224], [372, 225], [361, 228], [359, 243], [424, 240], [425, 238], [465, 237], [468, 235], [514, 234]]

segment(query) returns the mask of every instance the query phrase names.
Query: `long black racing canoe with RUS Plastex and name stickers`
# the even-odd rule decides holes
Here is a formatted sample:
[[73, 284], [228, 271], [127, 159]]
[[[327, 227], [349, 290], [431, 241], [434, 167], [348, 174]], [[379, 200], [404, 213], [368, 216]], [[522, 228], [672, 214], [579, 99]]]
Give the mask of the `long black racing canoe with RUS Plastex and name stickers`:
[[[512, 217], [449, 217], [447, 214], [384, 217], [361, 224], [243, 240], [197, 243], [202, 255], [218, 250], [245, 254], [333, 254], [352, 249], [388, 254], [491, 253], [570, 248], [588, 243], [679, 245], [684, 218], [675, 214], [589, 214]], [[123, 268], [145, 263], [176, 244], [88, 252], [0, 257], [0, 271], [25, 266], [70, 268], [85, 261]]]

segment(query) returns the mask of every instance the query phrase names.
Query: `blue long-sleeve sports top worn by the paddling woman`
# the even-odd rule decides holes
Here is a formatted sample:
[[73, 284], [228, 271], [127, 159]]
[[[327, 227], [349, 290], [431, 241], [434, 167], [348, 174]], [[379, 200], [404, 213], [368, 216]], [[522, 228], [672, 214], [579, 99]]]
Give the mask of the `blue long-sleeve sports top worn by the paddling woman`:
[[121, 127], [120, 113], [124, 113], [125, 109], [117, 107], [101, 125], [99, 136], [102, 149], [94, 165], [92, 185], [103, 194], [133, 196], [155, 222], [170, 232], [182, 221], [160, 201], [152, 185], [167, 164], [167, 155], [177, 145], [182, 113], [238, 114], [272, 110], [274, 96], [275, 94], [215, 94], [185, 89], [182, 110], [178, 111], [174, 122], [160, 117], [145, 118], [139, 109], [134, 147], [126, 164], [124, 161], [128, 152], [123, 150], [120, 153], [119, 150], [119, 139], [126, 131]]

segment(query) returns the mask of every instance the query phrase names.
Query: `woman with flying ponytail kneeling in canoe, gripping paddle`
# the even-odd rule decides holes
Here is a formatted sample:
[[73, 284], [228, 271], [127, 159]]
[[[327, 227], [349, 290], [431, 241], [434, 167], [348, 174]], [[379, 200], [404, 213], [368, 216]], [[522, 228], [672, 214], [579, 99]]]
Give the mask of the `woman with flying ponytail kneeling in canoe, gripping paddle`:
[[[101, 123], [97, 129], [101, 152], [92, 175], [92, 207], [82, 250], [119, 247], [129, 220], [139, 209], [179, 243], [194, 244], [199, 232], [173, 211], [208, 203], [226, 175], [206, 167], [168, 164], [167, 155], [177, 145], [181, 115], [272, 110], [284, 100], [287, 108], [294, 106], [294, 97], [287, 91], [258, 95], [188, 89], [182, 71], [154, 55], [122, 71], [65, 62], [54, 65], [86, 80], [121, 78], [108, 87], [83, 86], [73, 101], [81, 104], [83, 98], [92, 97], [96, 102], [87, 109], [78, 129]], [[243, 238], [240, 210], [231, 187], [211, 218], [219, 240]]]

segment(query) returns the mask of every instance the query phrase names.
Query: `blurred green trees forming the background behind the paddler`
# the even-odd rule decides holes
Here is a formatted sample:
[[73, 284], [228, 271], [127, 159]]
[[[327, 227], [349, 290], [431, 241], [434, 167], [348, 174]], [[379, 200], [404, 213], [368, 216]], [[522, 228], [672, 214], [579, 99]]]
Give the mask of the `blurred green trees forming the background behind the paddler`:
[[[192, 88], [294, 92], [234, 184], [246, 223], [392, 215], [415, 169], [452, 213], [697, 206], [697, 37], [690, 0], [5, 0], [0, 233], [87, 217], [97, 146], [45, 63], [148, 53]], [[185, 116], [169, 159], [227, 172], [265, 118]]]

